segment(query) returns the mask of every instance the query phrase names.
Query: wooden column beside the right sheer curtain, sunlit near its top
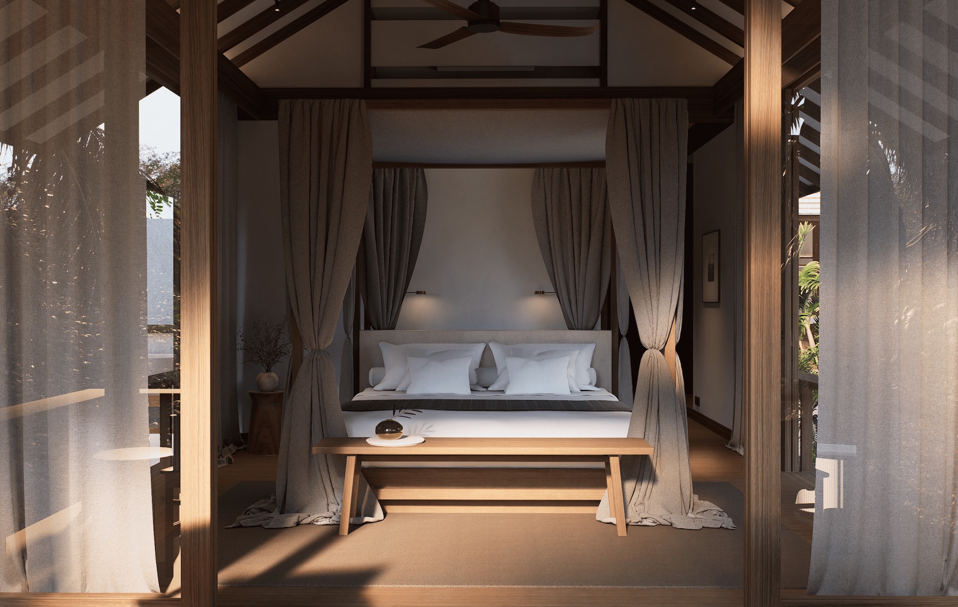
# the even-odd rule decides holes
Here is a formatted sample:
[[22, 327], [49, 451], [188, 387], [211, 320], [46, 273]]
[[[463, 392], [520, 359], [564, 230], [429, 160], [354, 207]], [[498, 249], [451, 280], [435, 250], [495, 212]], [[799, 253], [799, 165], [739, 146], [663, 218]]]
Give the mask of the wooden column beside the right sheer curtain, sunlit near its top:
[[780, 604], [782, 7], [745, 2], [744, 604]]

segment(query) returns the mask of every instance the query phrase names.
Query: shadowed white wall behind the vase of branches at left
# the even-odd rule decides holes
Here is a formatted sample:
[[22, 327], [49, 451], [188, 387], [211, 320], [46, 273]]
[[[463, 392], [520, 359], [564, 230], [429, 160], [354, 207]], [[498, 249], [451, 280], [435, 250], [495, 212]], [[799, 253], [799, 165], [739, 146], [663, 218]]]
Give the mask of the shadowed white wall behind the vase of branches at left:
[[[237, 141], [237, 327], [253, 321], [279, 322], [286, 310], [282, 219], [280, 217], [280, 156], [277, 123], [239, 121]], [[330, 349], [339, 373], [344, 333], [342, 321]], [[249, 424], [250, 390], [262, 368], [237, 356], [239, 429]], [[286, 380], [287, 365], [273, 371]], [[286, 387], [288, 389], [288, 387]]]

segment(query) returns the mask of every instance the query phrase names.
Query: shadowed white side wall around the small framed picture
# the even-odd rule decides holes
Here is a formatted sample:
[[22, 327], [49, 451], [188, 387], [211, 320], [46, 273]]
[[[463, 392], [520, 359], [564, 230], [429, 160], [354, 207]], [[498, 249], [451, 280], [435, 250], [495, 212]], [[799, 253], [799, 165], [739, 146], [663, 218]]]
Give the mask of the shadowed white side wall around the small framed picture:
[[[698, 411], [732, 427], [735, 397], [734, 253], [735, 127], [699, 148], [693, 184], [693, 393]], [[719, 230], [719, 303], [702, 303], [702, 235]]]

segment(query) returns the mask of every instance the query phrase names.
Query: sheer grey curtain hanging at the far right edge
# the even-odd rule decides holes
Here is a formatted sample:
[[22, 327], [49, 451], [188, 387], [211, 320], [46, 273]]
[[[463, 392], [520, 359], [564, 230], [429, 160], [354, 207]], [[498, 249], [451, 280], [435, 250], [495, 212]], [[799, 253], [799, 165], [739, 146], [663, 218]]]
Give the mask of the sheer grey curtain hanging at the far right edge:
[[958, 3], [822, 2], [810, 594], [958, 595]]

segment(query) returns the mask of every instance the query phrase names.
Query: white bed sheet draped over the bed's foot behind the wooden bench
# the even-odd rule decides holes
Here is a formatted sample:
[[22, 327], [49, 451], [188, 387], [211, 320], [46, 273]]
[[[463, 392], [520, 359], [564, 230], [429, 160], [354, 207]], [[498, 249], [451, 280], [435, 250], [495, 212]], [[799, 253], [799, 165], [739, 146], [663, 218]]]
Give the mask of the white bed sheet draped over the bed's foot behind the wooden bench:
[[[609, 394], [611, 395], [611, 394]], [[614, 396], [613, 396], [614, 398]], [[389, 416], [386, 411], [344, 411], [346, 431], [351, 437], [372, 437], [376, 424]], [[409, 419], [399, 419], [403, 434], [426, 437], [516, 437], [516, 438], [625, 438], [627, 411], [423, 411]], [[397, 453], [401, 449], [397, 447]], [[603, 467], [602, 463], [569, 462], [388, 462], [363, 465], [376, 467]]]

